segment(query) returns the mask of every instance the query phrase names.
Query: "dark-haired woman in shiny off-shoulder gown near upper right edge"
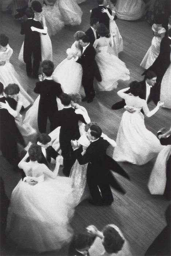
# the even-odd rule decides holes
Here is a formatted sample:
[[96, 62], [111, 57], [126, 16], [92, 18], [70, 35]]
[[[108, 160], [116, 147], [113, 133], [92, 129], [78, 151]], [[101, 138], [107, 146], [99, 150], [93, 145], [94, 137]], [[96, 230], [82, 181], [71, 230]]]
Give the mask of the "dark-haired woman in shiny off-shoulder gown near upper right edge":
[[155, 24], [152, 26], [154, 37], [151, 42], [151, 46], [145, 54], [143, 60], [141, 61], [140, 66], [148, 69], [157, 59], [160, 53], [160, 43], [161, 39], [164, 37], [166, 33], [166, 29], [162, 26], [164, 22], [164, 14], [158, 14], [155, 18]]

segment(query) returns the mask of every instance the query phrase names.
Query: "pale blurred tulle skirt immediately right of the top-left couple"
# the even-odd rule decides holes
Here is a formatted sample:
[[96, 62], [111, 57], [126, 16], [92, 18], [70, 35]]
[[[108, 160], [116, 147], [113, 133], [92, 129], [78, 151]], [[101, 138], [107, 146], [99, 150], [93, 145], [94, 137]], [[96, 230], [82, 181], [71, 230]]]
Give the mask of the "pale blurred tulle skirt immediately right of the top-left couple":
[[58, 7], [58, 0], [54, 6], [43, 5], [42, 14], [45, 16], [49, 36], [55, 35], [64, 27], [64, 21]]

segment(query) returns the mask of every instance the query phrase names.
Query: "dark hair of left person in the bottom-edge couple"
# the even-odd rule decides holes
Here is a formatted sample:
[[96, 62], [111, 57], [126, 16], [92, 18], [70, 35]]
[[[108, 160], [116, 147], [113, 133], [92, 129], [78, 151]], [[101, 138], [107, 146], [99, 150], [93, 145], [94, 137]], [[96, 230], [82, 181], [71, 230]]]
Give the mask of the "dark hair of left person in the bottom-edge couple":
[[90, 247], [94, 241], [95, 237], [92, 237], [90, 234], [76, 234], [73, 238], [73, 246], [77, 250]]

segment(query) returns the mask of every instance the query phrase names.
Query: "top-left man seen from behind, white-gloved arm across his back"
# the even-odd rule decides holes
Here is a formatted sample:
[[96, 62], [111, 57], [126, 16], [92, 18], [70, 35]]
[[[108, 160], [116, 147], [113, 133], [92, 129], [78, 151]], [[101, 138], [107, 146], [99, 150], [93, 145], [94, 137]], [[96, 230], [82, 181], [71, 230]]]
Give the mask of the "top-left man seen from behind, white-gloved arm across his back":
[[[21, 34], [25, 34], [24, 38], [24, 52], [23, 59], [26, 63], [27, 76], [31, 77], [33, 72], [33, 78], [38, 78], [39, 64], [41, 61], [41, 41], [40, 35], [37, 31], [32, 31], [31, 27], [36, 27], [37, 29], [43, 29], [41, 23], [34, 20], [33, 11], [27, 8], [25, 11], [27, 20], [21, 23]], [[33, 53], [33, 68], [31, 63], [31, 55]]]

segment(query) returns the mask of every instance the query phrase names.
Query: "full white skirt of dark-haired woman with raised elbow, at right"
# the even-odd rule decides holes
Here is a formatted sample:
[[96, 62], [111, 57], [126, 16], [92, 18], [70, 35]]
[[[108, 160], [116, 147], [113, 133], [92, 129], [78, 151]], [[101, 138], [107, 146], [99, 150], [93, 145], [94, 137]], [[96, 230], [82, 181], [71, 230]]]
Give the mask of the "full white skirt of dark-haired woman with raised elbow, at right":
[[157, 137], [144, 124], [144, 116], [140, 113], [125, 111], [119, 126], [117, 146], [113, 159], [118, 162], [130, 162], [144, 165], [163, 149]]

